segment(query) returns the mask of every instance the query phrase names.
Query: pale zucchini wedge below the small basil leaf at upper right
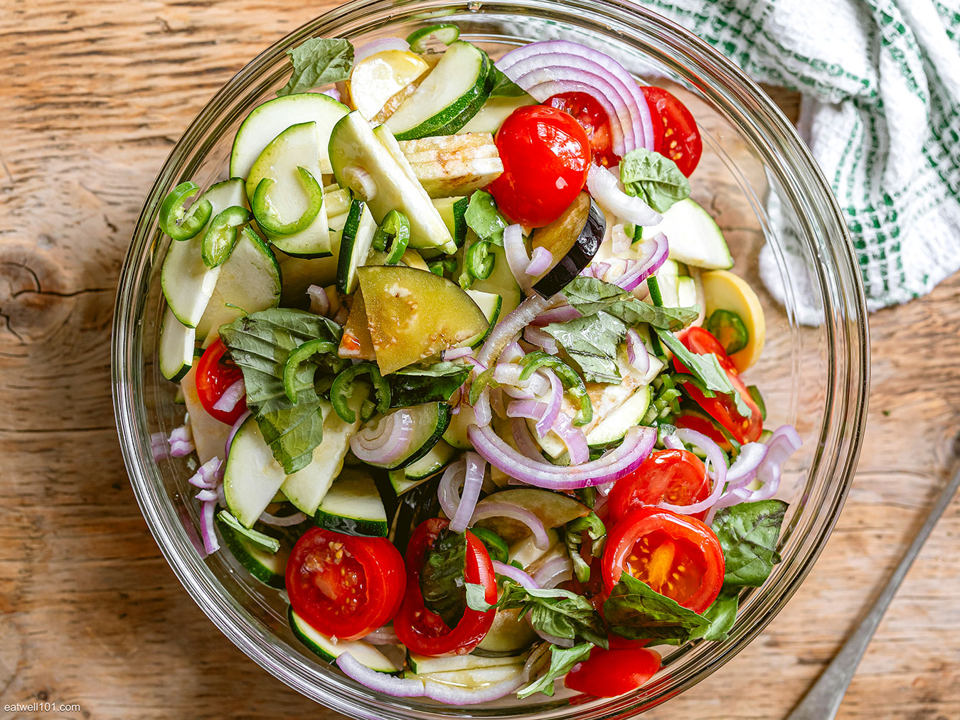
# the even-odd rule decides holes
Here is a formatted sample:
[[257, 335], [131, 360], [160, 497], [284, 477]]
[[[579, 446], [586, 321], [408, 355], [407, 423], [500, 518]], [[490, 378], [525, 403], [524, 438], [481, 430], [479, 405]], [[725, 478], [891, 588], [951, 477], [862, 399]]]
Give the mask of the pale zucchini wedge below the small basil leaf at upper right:
[[643, 239], [658, 232], [666, 235], [670, 258], [707, 270], [727, 270], [733, 258], [723, 231], [710, 214], [687, 198], [663, 213], [660, 225], [643, 228]]

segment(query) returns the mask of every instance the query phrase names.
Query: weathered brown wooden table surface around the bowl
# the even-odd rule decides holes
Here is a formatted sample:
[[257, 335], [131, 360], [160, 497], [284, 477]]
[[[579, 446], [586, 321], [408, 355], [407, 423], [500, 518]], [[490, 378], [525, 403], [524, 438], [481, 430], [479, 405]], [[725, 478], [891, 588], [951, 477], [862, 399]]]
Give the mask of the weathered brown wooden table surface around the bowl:
[[[2, 716], [332, 718], [248, 660], [180, 587], [133, 498], [109, 385], [116, 279], [165, 156], [247, 60], [332, 3], [0, 6], [0, 705], [79, 708]], [[866, 442], [827, 550], [762, 636], [648, 717], [782, 718], [946, 481], [960, 276], [871, 326]], [[960, 717], [958, 535], [954, 502], [840, 717]]]

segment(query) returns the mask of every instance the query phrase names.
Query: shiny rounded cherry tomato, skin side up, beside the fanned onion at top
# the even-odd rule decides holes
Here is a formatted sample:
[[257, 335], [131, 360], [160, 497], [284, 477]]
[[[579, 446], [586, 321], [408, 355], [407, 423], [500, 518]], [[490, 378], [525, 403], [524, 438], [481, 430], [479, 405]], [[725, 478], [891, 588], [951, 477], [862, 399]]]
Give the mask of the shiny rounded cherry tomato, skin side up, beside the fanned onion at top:
[[573, 202], [587, 181], [587, 132], [563, 110], [516, 108], [496, 133], [503, 173], [488, 188], [513, 222], [540, 228]]

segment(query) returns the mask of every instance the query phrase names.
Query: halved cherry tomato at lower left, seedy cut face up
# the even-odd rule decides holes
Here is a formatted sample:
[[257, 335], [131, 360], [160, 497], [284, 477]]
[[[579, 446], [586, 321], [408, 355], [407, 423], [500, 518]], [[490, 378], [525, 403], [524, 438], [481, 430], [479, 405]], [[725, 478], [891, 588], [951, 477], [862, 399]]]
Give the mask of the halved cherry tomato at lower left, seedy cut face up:
[[406, 573], [390, 540], [315, 527], [294, 545], [286, 582], [290, 606], [318, 633], [355, 640], [396, 614]]

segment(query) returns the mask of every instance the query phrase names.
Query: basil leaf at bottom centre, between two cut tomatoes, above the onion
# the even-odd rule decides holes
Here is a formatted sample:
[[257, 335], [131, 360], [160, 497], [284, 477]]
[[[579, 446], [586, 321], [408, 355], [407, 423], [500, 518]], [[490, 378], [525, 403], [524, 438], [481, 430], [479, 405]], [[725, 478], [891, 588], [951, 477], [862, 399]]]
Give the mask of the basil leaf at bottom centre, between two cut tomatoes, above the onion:
[[497, 607], [530, 613], [530, 622], [547, 635], [568, 640], [583, 639], [607, 647], [603, 620], [586, 597], [560, 588], [524, 588], [512, 581], [504, 583]]

